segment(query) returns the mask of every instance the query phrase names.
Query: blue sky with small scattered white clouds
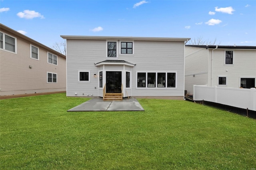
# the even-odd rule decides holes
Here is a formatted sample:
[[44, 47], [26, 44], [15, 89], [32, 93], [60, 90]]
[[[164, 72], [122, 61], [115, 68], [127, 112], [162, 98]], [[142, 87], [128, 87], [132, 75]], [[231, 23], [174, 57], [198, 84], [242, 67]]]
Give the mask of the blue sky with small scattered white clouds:
[[256, 45], [256, 0], [0, 0], [0, 22], [49, 47], [60, 35]]

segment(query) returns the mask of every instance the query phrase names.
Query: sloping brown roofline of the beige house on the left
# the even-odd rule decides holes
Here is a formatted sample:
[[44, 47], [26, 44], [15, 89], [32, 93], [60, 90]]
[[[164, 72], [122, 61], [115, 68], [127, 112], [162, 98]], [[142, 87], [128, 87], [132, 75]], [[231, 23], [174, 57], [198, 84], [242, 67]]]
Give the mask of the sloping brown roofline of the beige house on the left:
[[44, 45], [44, 44], [42, 44], [40, 42], [37, 42], [36, 40], [33, 40], [32, 38], [29, 38], [29, 37], [27, 37], [27, 36], [25, 36], [23, 34], [20, 34], [19, 32], [15, 31], [15, 30], [12, 30], [12, 28], [9, 28], [9, 27], [1, 24], [1, 23], [0, 23], [0, 31], [6, 32], [7, 34], [8, 33], [12, 34], [15, 37], [19, 37], [19, 38], [21, 38], [23, 40], [26, 40], [26, 41], [28, 41], [30, 43], [33, 43], [36, 46], [39, 46], [39, 47], [42, 47], [42, 48], [46, 49], [49, 52], [55, 53], [58, 56], [66, 58], [66, 55], [63, 55], [62, 53], [60, 53], [60, 52], [58, 52], [58, 51], [56, 51], [56, 50], [54, 50], [54, 49], [52, 49], [50, 47], [47, 47], [46, 45]]

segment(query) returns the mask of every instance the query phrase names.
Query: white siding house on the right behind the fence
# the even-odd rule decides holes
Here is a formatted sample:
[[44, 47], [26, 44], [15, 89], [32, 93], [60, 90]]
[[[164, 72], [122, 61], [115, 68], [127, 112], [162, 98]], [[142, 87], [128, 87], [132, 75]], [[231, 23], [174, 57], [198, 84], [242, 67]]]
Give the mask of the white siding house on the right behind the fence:
[[185, 90], [193, 85], [256, 86], [256, 46], [186, 45]]

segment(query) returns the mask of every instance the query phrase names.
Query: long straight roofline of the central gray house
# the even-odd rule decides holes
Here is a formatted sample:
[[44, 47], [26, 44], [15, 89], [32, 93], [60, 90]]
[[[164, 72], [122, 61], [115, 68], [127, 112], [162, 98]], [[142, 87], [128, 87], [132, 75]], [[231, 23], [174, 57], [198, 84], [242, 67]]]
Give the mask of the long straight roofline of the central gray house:
[[158, 38], [158, 37], [112, 37], [112, 36], [60, 36], [66, 40], [143, 40], [143, 41], [176, 41], [185, 42], [190, 38]]

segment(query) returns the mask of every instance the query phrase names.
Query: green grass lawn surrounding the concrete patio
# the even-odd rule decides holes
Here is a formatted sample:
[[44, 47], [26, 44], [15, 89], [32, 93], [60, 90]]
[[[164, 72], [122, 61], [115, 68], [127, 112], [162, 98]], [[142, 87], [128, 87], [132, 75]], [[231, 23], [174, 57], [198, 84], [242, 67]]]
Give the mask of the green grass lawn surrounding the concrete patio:
[[66, 93], [0, 100], [0, 169], [256, 168], [256, 120], [189, 101], [67, 112]]

